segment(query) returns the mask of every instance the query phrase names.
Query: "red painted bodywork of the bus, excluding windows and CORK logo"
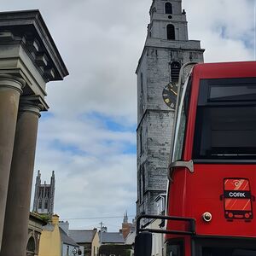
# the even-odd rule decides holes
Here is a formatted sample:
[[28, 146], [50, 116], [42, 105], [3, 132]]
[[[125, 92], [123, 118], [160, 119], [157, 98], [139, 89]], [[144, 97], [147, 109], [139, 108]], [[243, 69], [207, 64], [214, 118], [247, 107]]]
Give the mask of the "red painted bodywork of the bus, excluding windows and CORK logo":
[[[192, 90], [189, 103], [189, 119], [187, 123], [183, 160], [191, 160], [193, 137], [195, 131], [195, 113], [200, 79], [226, 79], [256, 77], [256, 61], [212, 63], [195, 65], [192, 73]], [[194, 164], [195, 172], [190, 173], [186, 168], [177, 168], [173, 172], [173, 183], [169, 184], [168, 211], [169, 216], [195, 218], [196, 235], [199, 236], [230, 236], [256, 237], [256, 203], [245, 199], [236, 201], [224, 199], [224, 179], [247, 179], [239, 190], [251, 190], [256, 195], [256, 166], [253, 164]], [[246, 180], [245, 180], [246, 181]], [[226, 190], [236, 190], [229, 183]], [[228, 201], [227, 201], [228, 200]], [[233, 200], [233, 201], [232, 201]], [[252, 204], [251, 204], [252, 202]], [[224, 207], [245, 207], [253, 211], [253, 219], [246, 222], [244, 219], [231, 219], [224, 216]], [[237, 209], [236, 209], [237, 210]], [[212, 221], [203, 221], [204, 212], [212, 213]], [[167, 223], [167, 229], [172, 229]], [[175, 236], [166, 236], [166, 239]], [[188, 237], [188, 236], [184, 236]], [[186, 238], [186, 245], [187, 245]], [[188, 245], [187, 245], [188, 246]], [[186, 248], [186, 254], [189, 249]]]

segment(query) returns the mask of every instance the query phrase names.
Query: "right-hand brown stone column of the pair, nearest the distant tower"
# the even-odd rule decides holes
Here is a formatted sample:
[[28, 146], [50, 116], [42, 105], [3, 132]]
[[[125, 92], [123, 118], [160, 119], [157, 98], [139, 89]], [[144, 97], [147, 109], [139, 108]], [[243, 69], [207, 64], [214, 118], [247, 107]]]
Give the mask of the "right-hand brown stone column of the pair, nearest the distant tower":
[[3, 227], [1, 256], [26, 256], [40, 104], [20, 101]]

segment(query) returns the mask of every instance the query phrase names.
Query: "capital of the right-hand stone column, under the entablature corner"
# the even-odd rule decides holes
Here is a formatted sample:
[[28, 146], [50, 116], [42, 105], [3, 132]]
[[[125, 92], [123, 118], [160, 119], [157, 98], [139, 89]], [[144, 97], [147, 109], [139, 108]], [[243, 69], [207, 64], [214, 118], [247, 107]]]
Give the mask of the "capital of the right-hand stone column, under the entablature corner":
[[41, 111], [47, 111], [48, 105], [40, 96], [21, 96], [20, 97], [20, 112], [32, 112], [41, 116]]

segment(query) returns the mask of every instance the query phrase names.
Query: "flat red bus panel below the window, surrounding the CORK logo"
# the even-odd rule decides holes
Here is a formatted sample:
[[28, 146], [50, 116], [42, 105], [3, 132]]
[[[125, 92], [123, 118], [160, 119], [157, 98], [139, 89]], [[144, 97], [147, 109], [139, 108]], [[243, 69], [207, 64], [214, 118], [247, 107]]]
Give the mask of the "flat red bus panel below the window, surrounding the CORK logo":
[[[188, 217], [196, 219], [196, 233], [198, 235], [218, 236], [251, 236], [256, 237], [255, 216], [255, 187], [250, 188], [251, 199], [242, 206], [244, 199], [234, 198], [232, 205], [240, 202], [241, 209], [252, 212], [252, 218], [229, 218], [225, 214], [224, 181], [230, 177], [247, 179], [251, 184], [256, 183], [256, 167], [251, 165], [196, 165], [195, 172], [190, 174], [187, 183], [187, 212]], [[236, 194], [235, 194], [236, 195]], [[241, 196], [244, 196], [241, 193]], [[236, 203], [236, 204], [235, 204]], [[212, 221], [206, 222], [202, 215], [204, 212], [212, 214]], [[246, 213], [246, 212], [245, 212]]]

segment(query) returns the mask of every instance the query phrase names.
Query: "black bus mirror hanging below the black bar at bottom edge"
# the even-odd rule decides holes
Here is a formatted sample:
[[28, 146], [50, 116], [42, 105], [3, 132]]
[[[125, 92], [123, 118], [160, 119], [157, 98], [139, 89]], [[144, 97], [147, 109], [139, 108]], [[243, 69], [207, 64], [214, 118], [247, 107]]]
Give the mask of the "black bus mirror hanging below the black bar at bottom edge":
[[139, 233], [135, 238], [134, 256], [151, 256], [152, 234], [149, 232]]

